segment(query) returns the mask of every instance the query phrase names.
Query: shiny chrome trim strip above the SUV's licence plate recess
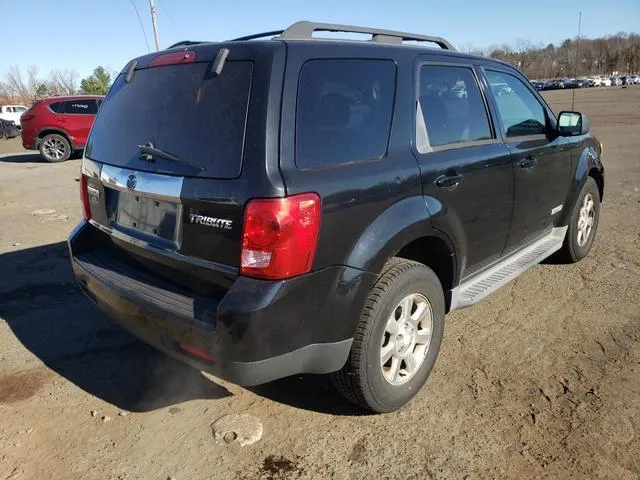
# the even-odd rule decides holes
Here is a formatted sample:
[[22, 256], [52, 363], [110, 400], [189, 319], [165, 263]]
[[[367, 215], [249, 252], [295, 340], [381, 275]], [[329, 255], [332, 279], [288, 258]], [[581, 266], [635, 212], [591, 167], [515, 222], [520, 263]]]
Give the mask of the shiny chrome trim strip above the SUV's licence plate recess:
[[[132, 178], [135, 180], [134, 182], [130, 181]], [[115, 190], [140, 193], [144, 197], [180, 203], [184, 177], [102, 165], [100, 181], [105, 187]], [[129, 182], [129, 186], [127, 186], [127, 182]], [[133, 187], [131, 187], [132, 184]]]

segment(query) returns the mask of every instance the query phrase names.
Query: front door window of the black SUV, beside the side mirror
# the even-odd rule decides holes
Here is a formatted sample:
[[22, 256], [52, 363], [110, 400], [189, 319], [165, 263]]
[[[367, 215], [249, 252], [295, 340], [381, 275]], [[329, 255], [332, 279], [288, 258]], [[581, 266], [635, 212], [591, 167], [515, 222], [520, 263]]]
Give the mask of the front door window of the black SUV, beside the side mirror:
[[545, 133], [547, 122], [544, 108], [524, 83], [508, 73], [491, 70], [486, 73], [506, 136]]

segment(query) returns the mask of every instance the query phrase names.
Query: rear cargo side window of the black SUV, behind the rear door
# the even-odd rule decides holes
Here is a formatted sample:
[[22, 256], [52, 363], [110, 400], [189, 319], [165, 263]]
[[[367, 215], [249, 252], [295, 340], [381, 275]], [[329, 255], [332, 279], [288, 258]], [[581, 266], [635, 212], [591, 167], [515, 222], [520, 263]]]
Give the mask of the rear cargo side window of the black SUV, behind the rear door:
[[387, 151], [396, 66], [387, 60], [313, 60], [300, 72], [296, 164], [380, 158]]

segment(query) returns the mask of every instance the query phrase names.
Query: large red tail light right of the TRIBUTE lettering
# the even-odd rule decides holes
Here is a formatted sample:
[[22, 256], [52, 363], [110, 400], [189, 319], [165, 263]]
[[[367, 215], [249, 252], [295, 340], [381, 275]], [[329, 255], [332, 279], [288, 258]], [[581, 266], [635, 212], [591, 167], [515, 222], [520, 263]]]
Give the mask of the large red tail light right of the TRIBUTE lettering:
[[311, 270], [320, 230], [320, 197], [303, 193], [251, 200], [245, 209], [240, 272], [282, 279]]

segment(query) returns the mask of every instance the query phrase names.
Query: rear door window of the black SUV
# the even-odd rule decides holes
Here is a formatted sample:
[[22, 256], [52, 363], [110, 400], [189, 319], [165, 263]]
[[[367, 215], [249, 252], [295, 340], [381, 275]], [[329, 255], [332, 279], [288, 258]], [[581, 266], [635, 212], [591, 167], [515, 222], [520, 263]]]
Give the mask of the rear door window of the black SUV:
[[[424, 65], [418, 100], [418, 150], [492, 138], [487, 110], [470, 68]], [[420, 141], [424, 126], [426, 138]]]

